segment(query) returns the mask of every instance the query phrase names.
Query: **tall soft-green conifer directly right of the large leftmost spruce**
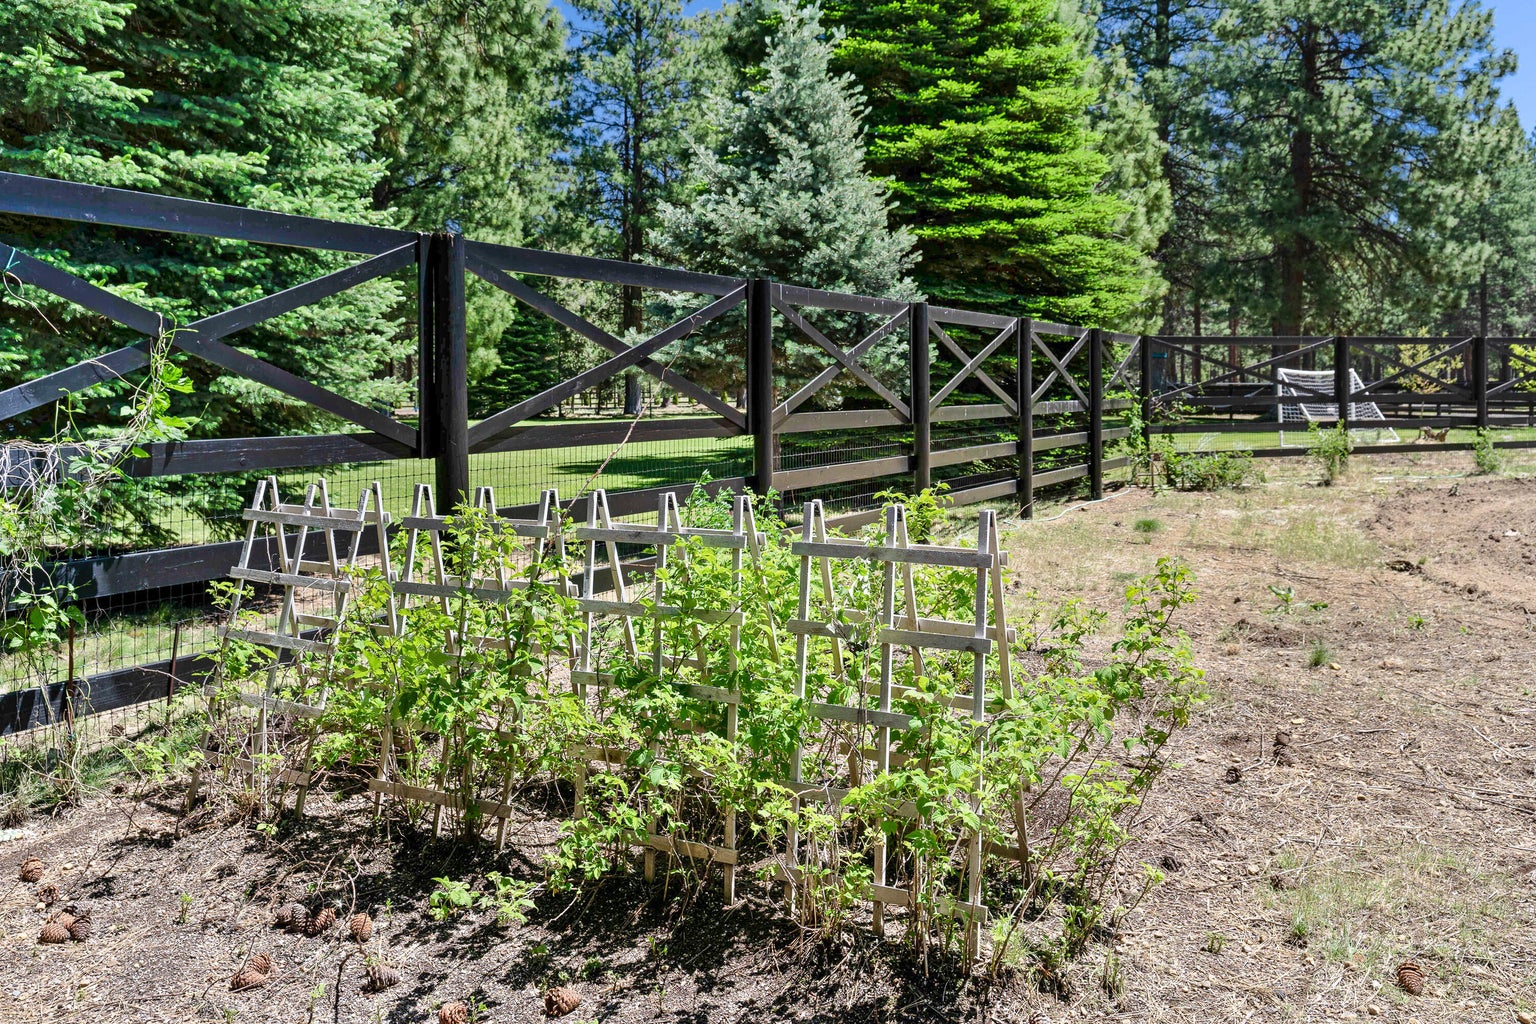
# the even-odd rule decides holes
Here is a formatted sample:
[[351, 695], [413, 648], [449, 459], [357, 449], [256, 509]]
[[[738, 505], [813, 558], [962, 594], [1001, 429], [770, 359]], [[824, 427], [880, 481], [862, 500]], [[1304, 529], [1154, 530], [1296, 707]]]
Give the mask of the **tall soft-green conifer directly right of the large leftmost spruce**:
[[[535, 241], [554, 193], [551, 114], [565, 86], [559, 15], [545, 0], [390, 6], [404, 49], [384, 83], [399, 101], [378, 130], [386, 173], [373, 207], [412, 230], [453, 226], [478, 241]], [[478, 385], [502, 358], [498, 338], [511, 321], [538, 313], [488, 287], [472, 287], [467, 304]]]

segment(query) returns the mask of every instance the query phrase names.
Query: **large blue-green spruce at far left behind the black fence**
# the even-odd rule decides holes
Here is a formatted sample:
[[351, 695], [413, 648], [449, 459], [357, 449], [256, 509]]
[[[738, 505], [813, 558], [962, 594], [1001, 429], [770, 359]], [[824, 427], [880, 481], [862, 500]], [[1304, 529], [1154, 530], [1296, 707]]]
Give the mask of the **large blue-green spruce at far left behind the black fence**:
[[[23, 2], [0, 8], [0, 167], [292, 213], [381, 221], [367, 154], [399, 41], [373, 0], [206, 3]], [[343, 266], [306, 253], [78, 224], [0, 218], [32, 255], [187, 322]], [[410, 347], [379, 281], [232, 341], [358, 401], [389, 404], [382, 373]], [[0, 307], [3, 384], [124, 344], [131, 335], [61, 299]], [[46, 313], [46, 321], [38, 315]], [[49, 322], [58, 329], [54, 333]], [[404, 330], [402, 330], [404, 327]], [[201, 379], [200, 430], [269, 433], [327, 418], [249, 381]], [[115, 411], [101, 399], [97, 415]], [[51, 411], [38, 410], [35, 428]]]

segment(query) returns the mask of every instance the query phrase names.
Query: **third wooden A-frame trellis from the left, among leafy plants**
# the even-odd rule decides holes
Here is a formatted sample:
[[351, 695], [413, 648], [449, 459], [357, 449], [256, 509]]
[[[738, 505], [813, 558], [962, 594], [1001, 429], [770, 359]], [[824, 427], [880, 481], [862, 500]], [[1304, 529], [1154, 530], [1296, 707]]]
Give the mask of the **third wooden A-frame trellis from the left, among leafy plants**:
[[[674, 491], [665, 491], [657, 499], [656, 524], [616, 524], [608, 510], [608, 496], [602, 490], [593, 493], [587, 505], [587, 525], [576, 530], [576, 537], [587, 542], [585, 562], [582, 567], [582, 596], [579, 606], [582, 611], [582, 636], [578, 645], [576, 668], [571, 672], [571, 683], [584, 699], [601, 697], [602, 688], [614, 683], [611, 672], [601, 672], [594, 665], [594, 634], [602, 619], [616, 619], [621, 629], [625, 652], [636, 662], [641, 659], [639, 636], [636, 623], [650, 625], [651, 649], [648, 651], [651, 671], [676, 686], [680, 692], [696, 700], [719, 703], [725, 708], [725, 738], [736, 740], [737, 717], [740, 708], [740, 691], [734, 686], [711, 685], [714, 666], [708, 663], [705, 631], [723, 626], [727, 629], [727, 672], [736, 669], [736, 659], [740, 649], [742, 631], [742, 557], [751, 560], [753, 568], [762, 563], [763, 534], [757, 531], [751, 499], [737, 494], [731, 507], [731, 528], [688, 527], [682, 522], [682, 511]], [[667, 568], [671, 559], [676, 560], [674, 571], [685, 577], [690, 559], [685, 545], [679, 542], [693, 539], [707, 548], [725, 548], [731, 551], [731, 583], [725, 594], [723, 606], [716, 608], [682, 608], [667, 603]], [[642, 545], [654, 551], [654, 583], [648, 600], [639, 600], [624, 574], [624, 560], [619, 545]], [[599, 548], [607, 559], [599, 557]], [[602, 585], [602, 573], [608, 574], [607, 585]], [[610, 596], [602, 596], [608, 594]], [[685, 651], [668, 652], [664, 643], [662, 622], [679, 622], [691, 637], [693, 654]], [[770, 623], [771, 625], [771, 623]], [[777, 649], [777, 642], [770, 628], [768, 643]], [[690, 683], [674, 677], [674, 672], [694, 672], [700, 682]], [[659, 752], [659, 751], [657, 751]], [[578, 768], [576, 792], [578, 815], [582, 812], [585, 798], [585, 780], [588, 761], [622, 763], [630, 751], [614, 751], [601, 746], [587, 746], [573, 751], [581, 758]], [[717, 863], [723, 869], [725, 900], [736, 898], [736, 812], [727, 809], [722, 821], [722, 843], [697, 843], [674, 835], [660, 835], [657, 823], [651, 818], [647, 824], [644, 841], [645, 878], [656, 877], [656, 854]]]

